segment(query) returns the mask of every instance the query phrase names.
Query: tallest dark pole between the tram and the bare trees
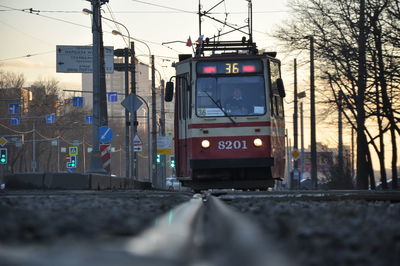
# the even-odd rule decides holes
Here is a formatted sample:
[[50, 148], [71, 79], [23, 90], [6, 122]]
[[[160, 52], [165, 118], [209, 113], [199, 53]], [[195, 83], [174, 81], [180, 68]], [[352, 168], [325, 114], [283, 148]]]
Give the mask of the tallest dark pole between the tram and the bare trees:
[[310, 101], [311, 101], [311, 184], [317, 189], [317, 142], [315, 128], [315, 78], [314, 78], [314, 36], [310, 35]]

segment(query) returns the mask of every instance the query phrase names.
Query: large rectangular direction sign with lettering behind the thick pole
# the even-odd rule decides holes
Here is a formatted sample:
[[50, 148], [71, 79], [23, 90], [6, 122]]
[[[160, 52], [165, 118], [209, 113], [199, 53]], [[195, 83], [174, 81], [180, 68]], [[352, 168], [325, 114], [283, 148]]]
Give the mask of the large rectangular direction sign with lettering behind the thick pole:
[[[93, 47], [57, 45], [57, 72], [93, 73]], [[114, 47], [104, 47], [106, 73], [114, 72]]]

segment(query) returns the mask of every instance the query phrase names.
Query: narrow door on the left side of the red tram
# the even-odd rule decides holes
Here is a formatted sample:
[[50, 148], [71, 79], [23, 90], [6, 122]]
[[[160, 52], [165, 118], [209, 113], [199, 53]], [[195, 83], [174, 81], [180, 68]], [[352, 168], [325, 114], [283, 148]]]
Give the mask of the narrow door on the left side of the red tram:
[[175, 112], [175, 157], [177, 160], [177, 176], [189, 176], [188, 166], [188, 119], [190, 116], [190, 91], [188, 90], [189, 74], [182, 74], [177, 77]]

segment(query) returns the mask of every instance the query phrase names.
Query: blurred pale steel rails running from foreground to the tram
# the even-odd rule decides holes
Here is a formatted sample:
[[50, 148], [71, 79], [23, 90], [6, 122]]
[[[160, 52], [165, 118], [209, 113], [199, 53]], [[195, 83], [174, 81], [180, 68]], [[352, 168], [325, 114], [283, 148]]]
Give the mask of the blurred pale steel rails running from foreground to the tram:
[[196, 194], [126, 248], [147, 258], [148, 265], [293, 265], [262, 235], [255, 223], [217, 197]]

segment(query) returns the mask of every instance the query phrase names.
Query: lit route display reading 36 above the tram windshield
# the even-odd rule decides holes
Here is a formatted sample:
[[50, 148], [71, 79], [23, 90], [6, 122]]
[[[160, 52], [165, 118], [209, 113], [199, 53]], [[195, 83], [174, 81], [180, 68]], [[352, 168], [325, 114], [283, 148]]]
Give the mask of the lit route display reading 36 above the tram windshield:
[[260, 60], [198, 62], [197, 73], [203, 75], [235, 75], [262, 72]]

